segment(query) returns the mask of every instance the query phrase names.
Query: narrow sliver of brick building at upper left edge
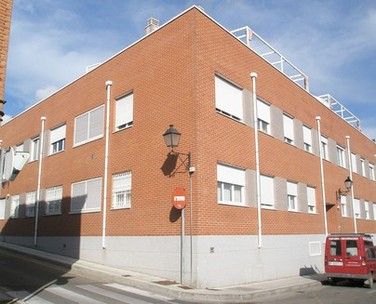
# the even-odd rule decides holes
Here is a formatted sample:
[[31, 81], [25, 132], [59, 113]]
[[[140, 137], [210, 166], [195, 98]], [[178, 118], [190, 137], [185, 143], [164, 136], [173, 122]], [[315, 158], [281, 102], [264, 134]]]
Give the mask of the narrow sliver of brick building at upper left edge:
[[12, 15], [12, 0], [0, 3], [0, 120], [2, 119], [4, 104], [5, 74], [8, 58], [8, 42], [10, 32], [10, 18]]

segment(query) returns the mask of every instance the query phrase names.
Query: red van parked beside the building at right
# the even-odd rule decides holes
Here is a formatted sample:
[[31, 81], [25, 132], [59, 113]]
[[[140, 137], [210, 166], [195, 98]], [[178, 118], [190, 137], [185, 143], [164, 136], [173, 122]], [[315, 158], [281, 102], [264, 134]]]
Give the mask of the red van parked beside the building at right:
[[339, 279], [376, 279], [376, 247], [372, 236], [364, 233], [329, 234], [325, 243], [325, 274], [333, 283]]

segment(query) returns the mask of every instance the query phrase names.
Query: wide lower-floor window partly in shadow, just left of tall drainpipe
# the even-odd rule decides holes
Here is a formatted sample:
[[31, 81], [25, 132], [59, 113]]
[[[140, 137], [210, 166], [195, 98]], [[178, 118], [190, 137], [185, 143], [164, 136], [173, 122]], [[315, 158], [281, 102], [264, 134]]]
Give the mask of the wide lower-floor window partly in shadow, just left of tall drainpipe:
[[72, 184], [72, 213], [100, 211], [101, 201], [101, 177]]

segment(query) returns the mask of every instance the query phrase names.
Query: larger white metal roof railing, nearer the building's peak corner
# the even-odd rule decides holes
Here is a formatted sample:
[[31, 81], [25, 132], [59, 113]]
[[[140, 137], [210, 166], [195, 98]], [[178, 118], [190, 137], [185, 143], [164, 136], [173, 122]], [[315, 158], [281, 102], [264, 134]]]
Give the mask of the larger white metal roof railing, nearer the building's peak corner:
[[308, 76], [248, 26], [233, 30], [231, 33], [293, 82], [309, 91]]

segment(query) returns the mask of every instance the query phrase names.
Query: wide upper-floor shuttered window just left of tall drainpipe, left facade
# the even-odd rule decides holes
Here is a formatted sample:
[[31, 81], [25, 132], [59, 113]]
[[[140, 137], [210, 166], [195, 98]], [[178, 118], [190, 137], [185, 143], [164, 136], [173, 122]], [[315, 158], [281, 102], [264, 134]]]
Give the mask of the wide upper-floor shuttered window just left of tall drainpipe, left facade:
[[104, 106], [95, 108], [74, 120], [74, 145], [84, 144], [103, 136]]

